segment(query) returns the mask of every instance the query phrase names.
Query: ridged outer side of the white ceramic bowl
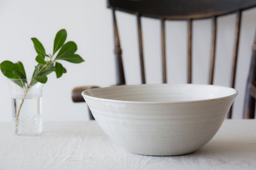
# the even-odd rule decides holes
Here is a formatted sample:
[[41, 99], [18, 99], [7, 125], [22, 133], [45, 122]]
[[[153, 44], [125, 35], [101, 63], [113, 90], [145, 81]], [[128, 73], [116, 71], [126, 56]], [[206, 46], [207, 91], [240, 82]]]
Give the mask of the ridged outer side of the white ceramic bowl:
[[[110, 88], [99, 89], [97, 96], [125, 96], [122, 87], [117, 91]], [[138, 93], [143, 95], [141, 90]], [[129, 103], [93, 97], [94, 89], [83, 92], [95, 120], [114, 142], [133, 153], [154, 156], [182, 155], [204, 146], [221, 127], [236, 95], [188, 102]]]

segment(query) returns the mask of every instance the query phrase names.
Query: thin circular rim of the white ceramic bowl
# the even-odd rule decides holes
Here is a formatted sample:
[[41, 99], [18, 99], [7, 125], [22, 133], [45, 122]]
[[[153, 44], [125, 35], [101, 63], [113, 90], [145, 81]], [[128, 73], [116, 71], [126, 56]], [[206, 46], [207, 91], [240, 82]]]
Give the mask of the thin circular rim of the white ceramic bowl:
[[202, 102], [211, 102], [211, 101], [218, 101], [218, 100], [224, 100], [232, 97], [236, 97], [238, 95], [238, 91], [234, 88], [231, 87], [226, 87], [226, 86], [221, 86], [221, 85], [205, 85], [205, 84], [137, 84], [137, 85], [115, 85], [115, 86], [108, 86], [108, 87], [99, 87], [101, 89], [103, 88], [115, 88], [115, 87], [120, 87], [120, 86], [142, 86], [142, 85], [202, 85], [202, 86], [215, 86], [215, 87], [221, 87], [221, 88], [229, 88], [233, 89], [235, 93], [231, 95], [227, 95], [224, 97], [217, 97], [217, 98], [212, 98], [212, 99], [202, 99], [202, 100], [189, 100], [189, 101], [172, 101], [172, 102], [142, 102], [142, 101], [125, 101], [125, 100], [114, 100], [114, 99], [105, 99], [105, 98], [99, 98], [99, 97], [94, 97], [90, 96], [86, 93], [90, 91], [97, 90], [98, 88], [93, 88], [93, 89], [88, 89], [84, 90], [82, 92], [82, 96], [85, 98], [89, 99], [94, 99], [94, 100], [100, 100], [100, 101], [109, 101], [109, 102], [115, 102], [115, 103], [134, 103], [134, 104], [182, 104], [182, 103], [202, 103]]

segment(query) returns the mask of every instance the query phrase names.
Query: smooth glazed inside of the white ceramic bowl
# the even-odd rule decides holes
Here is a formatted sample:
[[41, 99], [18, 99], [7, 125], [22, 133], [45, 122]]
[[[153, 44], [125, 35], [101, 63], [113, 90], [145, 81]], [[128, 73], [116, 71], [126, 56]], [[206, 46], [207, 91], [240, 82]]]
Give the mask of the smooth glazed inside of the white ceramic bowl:
[[84, 94], [100, 99], [127, 102], [175, 103], [222, 99], [236, 95], [233, 88], [215, 85], [121, 85], [85, 91]]

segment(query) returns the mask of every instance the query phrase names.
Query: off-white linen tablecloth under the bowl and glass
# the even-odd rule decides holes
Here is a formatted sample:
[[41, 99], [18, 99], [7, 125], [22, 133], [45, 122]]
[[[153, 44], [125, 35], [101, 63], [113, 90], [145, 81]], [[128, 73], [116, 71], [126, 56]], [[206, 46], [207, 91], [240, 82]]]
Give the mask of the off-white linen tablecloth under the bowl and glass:
[[201, 149], [172, 157], [130, 153], [95, 121], [44, 122], [38, 136], [17, 136], [0, 123], [0, 170], [256, 169], [256, 120], [225, 120]]

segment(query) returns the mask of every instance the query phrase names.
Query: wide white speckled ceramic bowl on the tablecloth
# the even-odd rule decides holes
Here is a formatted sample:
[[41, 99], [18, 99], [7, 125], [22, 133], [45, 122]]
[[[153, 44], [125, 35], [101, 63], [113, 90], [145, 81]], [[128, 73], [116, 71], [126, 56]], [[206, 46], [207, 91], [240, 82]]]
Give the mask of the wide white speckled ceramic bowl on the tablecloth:
[[143, 155], [191, 153], [209, 142], [238, 92], [215, 85], [120, 85], [82, 95], [104, 132]]

